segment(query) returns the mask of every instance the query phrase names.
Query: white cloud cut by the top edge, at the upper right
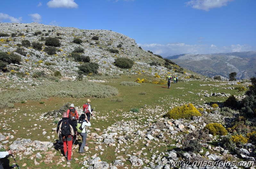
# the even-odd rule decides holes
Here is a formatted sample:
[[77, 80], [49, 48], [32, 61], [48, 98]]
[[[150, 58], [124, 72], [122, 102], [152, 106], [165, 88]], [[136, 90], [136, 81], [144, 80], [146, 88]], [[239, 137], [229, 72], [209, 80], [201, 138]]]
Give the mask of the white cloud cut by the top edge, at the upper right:
[[228, 2], [233, 0], [191, 0], [185, 4], [192, 6], [192, 8], [209, 11], [211, 8], [220, 8], [227, 6]]

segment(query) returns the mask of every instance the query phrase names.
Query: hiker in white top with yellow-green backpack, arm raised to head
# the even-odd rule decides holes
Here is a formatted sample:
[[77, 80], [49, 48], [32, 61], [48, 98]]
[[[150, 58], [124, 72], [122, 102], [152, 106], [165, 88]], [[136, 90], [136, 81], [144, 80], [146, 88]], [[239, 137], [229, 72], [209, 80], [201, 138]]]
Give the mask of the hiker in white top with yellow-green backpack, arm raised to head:
[[[80, 125], [81, 124], [81, 125]], [[80, 126], [78, 128], [78, 126]], [[86, 126], [91, 126], [91, 123], [85, 118], [85, 114], [81, 114], [79, 121], [78, 121], [78, 134], [82, 137], [82, 145], [80, 147], [79, 153], [83, 153], [84, 147], [87, 146], [88, 144], [86, 143], [86, 137], [87, 137], [87, 130]], [[81, 131], [81, 132], [79, 132]]]

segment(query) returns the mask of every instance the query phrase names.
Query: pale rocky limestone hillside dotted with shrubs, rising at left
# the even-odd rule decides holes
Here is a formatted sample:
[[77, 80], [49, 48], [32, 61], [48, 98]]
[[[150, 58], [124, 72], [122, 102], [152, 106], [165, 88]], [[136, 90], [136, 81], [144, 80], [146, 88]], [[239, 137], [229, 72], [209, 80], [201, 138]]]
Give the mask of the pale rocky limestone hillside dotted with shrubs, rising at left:
[[[78, 66], [81, 62], [76, 62], [70, 53], [75, 48], [84, 49], [83, 55], [89, 56], [91, 62], [99, 64], [98, 73], [100, 75], [122, 75], [122, 74], [141, 74], [146, 73], [154, 76], [158, 73], [160, 77], [165, 77], [167, 72], [174, 73], [174, 70], [167, 70], [164, 66], [150, 66], [149, 63], [157, 62], [164, 65], [164, 60], [152, 53], [149, 53], [136, 44], [134, 39], [129, 38], [120, 33], [109, 30], [84, 30], [73, 27], [49, 26], [38, 23], [22, 24], [22, 23], [0, 23], [0, 33], [4, 37], [0, 37], [0, 51], [8, 54], [17, 52], [21, 48], [21, 63], [16, 65], [8, 65], [7, 74], [2, 76], [8, 80], [11, 70], [19, 67], [19, 72], [26, 73], [26, 82], [34, 79], [31, 77], [36, 71], [43, 70], [46, 74], [52, 75], [56, 70], [61, 72], [62, 79], [75, 79], [78, 76]], [[93, 37], [98, 37], [94, 40]], [[61, 45], [56, 47], [56, 54], [49, 55], [45, 52], [45, 39], [47, 37], [57, 37]], [[74, 39], [80, 39], [81, 43], [74, 43]], [[22, 45], [22, 41], [29, 40], [32, 44], [40, 43], [42, 48], [36, 50], [31, 44]], [[111, 52], [112, 50], [112, 52]], [[118, 57], [132, 59], [135, 64], [131, 69], [119, 69], [114, 66], [115, 59]], [[8, 74], [9, 72], [9, 74]], [[178, 74], [178, 76], [189, 76], [187, 74]], [[19, 77], [12, 74], [12, 80], [21, 81]], [[200, 75], [198, 75], [200, 76]]]

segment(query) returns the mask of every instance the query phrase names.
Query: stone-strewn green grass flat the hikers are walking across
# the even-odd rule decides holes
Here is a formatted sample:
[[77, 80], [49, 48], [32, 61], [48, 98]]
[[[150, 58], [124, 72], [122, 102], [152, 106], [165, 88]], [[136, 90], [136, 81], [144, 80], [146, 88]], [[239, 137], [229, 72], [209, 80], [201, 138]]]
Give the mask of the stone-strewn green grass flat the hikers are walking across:
[[[202, 104], [203, 102], [223, 102], [227, 98], [221, 98], [221, 97], [199, 97], [196, 95], [198, 92], [202, 92], [202, 90], [207, 90], [207, 93], [211, 92], [225, 92], [230, 94], [241, 94], [240, 92], [236, 90], [230, 90], [230, 89], [222, 89], [223, 87], [229, 87], [229, 85], [220, 85], [220, 87], [214, 87], [214, 86], [200, 86], [200, 84], [225, 84], [224, 82], [203, 82], [203, 81], [188, 81], [188, 82], [178, 82], [178, 84], [171, 84], [171, 88], [167, 89], [167, 85], [155, 85], [155, 84], [141, 84], [141, 86], [123, 86], [120, 85], [120, 82], [122, 81], [134, 81], [136, 78], [145, 78], [142, 76], [122, 76], [120, 79], [111, 79], [109, 82], [105, 83], [107, 85], [114, 86], [118, 88], [119, 90], [119, 96], [116, 96], [114, 98], [107, 98], [107, 99], [96, 99], [96, 98], [90, 98], [92, 100], [91, 105], [96, 111], [96, 119], [92, 119], [92, 127], [89, 128], [91, 132], [96, 132], [95, 128], [100, 128], [100, 132], [96, 132], [99, 135], [102, 134], [102, 131], [106, 129], [108, 126], [111, 126], [111, 124], [115, 123], [116, 121], [128, 121], [131, 119], [134, 119], [135, 116], [139, 116], [139, 120], [133, 120], [137, 124], [144, 124], [144, 121], [146, 121], [147, 118], [144, 118], [145, 115], [154, 116], [155, 114], [150, 114], [150, 112], [145, 111], [144, 105], [146, 104], [147, 107], [154, 108], [155, 106], [161, 106], [162, 112], [159, 112], [159, 114], [163, 114], [164, 112], [167, 112], [170, 107], [175, 106], [178, 103], [193, 103], [193, 104]], [[150, 77], [146, 77], [150, 78]], [[232, 86], [235, 87], [235, 86]], [[140, 95], [140, 92], [145, 92], [145, 95]], [[193, 93], [189, 93], [193, 92]], [[111, 102], [111, 99], [115, 98], [122, 98], [123, 102]], [[0, 110], [0, 115], [2, 117], [1, 123], [6, 127], [8, 130], [4, 130], [4, 127], [1, 126], [1, 133], [11, 133], [11, 135], [14, 135], [14, 139], [9, 141], [14, 141], [18, 137], [19, 138], [30, 138], [31, 140], [40, 140], [40, 141], [51, 141], [54, 142], [54, 139], [57, 139], [57, 136], [55, 132], [52, 131], [52, 128], [55, 128], [56, 125], [51, 123], [53, 120], [37, 120], [39, 119], [39, 116], [42, 113], [45, 113], [50, 110], [59, 109], [64, 103], [70, 102], [74, 103], [75, 106], [82, 106], [87, 98], [84, 99], [72, 99], [72, 98], [50, 98], [48, 100], [41, 100], [44, 101], [45, 104], [39, 104], [39, 102], [35, 101], [28, 101], [25, 104], [15, 104], [14, 109], [4, 109]], [[132, 108], [141, 108], [140, 112], [138, 114], [131, 114], [129, 111]], [[4, 114], [5, 112], [5, 114]], [[24, 114], [27, 114], [25, 116]], [[30, 115], [29, 115], [30, 114]], [[122, 114], [129, 114], [127, 117], [123, 116]], [[99, 119], [99, 117], [106, 116], [106, 119]], [[31, 119], [31, 121], [29, 121]], [[15, 122], [13, 122], [15, 121]], [[34, 124], [37, 124], [37, 129], [34, 127]], [[39, 129], [39, 125], [41, 125]], [[23, 127], [25, 129], [23, 129]], [[47, 132], [45, 136], [42, 135], [43, 129]], [[13, 131], [17, 131], [17, 134], [14, 134]], [[29, 131], [28, 131], [29, 130]], [[143, 129], [141, 129], [143, 130]], [[51, 134], [52, 132], [52, 134]], [[31, 133], [29, 136], [27, 134]], [[54, 135], [54, 138], [51, 138], [50, 140], [46, 139], [46, 136]], [[133, 152], [139, 151], [142, 147], [144, 147], [143, 140], [139, 141], [139, 143], [136, 144], [136, 146], [132, 146], [130, 148], [126, 148], [126, 150], [129, 150], [128, 152], [120, 152], [115, 154], [114, 147], [105, 146], [103, 143], [102, 146], [105, 149], [103, 151], [103, 154], [100, 155], [99, 151], [95, 150], [95, 146], [98, 144], [93, 144], [93, 140], [87, 139], [87, 142], [89, 144], [89, 153], [86, 153], [87, 157], [91, 157], [95, 153], [103, 160], [107, 161], [108, 163], [113, 162], [116, 159], [116, 156], [123, 156], [124, 158], [127, 158], [125, 154], [131, 154]], [[175, 142], [175, 141], [174, 141]], [[117, 144], [117, 143], [116, 143]], [[132, 143], [131, 143], [132, 144]], [[158, 151], [163, 151], [170, 149], [171, 147], [162, 147], [159, 146], [160, 143], [152, 143], [155, 144], [151, 147]], [[10, 145], [10, 144], [8, 144]], [[123, 145], [123, 146], [129, 146], [129, 145]], [[146, 147], [148, 149], [148, 147]], [[55, 150], [54, 150], [55, 151]], [[53, 151], [53, 152], [54, 152]], [[145, 151], [148, 153], [148, 159], [151, 157], [152, 152]], [[144, 153], [144, 152], [143, 152]], [[34, 155], [36, 154], [33, 153]], [[18, 154], [16, 154], [18, 155]], [[56, 166], [55, 164], [57, 161], [59, 161], [59, 158], [61, 156], [59, 155], [59, 152], [57, 151], [56, 156], [54, 157], [54, 164], [44, 164], [43, 162], [37, 166], [37, 168], [59, 168], [60, 166]], [[72, 162], [71, 167], [72, 168], [78, 168], [81, 167], [82, 164], [78, 164], [80, 161], [82, 161], [84, 156], [80, 156], [78, 154], [78, 149], [73, 149], [73, 157], [78, 158], [78, 161]], [[34, 166], [34, 160], [30, 160], [29, 156], [23, 156], [23, 159], [17, 158], [17, 161], [19, 165], [23, 165], [24, 163], [27, 163], [28, 168], [35, 168]], [[11, 163], [12, 160], [10, 159]], [[39, 159], [37, 159], [38, 162], [40, 162]], [[65, 164], [63, 162], [62, 164]], [[126, 165], [130, 165], [128, 161], [125, 162]]]

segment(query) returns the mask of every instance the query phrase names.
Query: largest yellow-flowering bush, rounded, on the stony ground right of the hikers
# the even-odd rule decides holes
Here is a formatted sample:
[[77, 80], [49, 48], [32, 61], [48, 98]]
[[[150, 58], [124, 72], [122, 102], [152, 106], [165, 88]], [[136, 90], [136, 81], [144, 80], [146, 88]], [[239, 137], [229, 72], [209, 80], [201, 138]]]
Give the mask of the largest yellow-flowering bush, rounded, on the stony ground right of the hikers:
[[174, 107], [164, 115], [169, 119], [190, 119], [193, 116], [202, 116], [202, 114], [191, 103], [181, 107]]

